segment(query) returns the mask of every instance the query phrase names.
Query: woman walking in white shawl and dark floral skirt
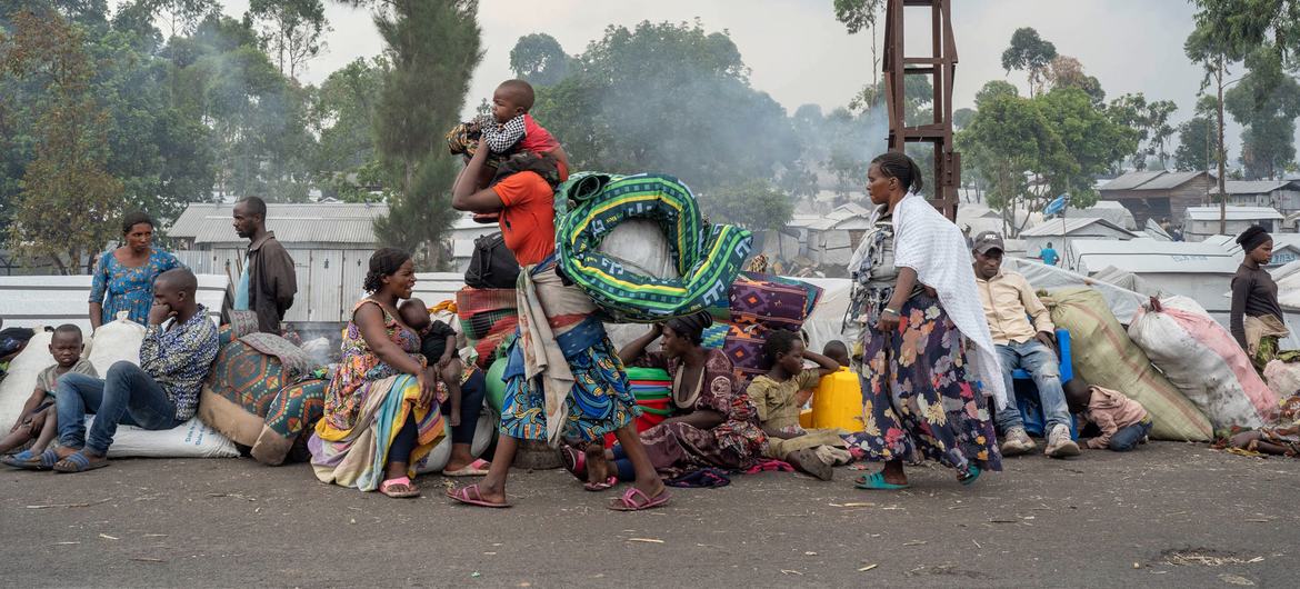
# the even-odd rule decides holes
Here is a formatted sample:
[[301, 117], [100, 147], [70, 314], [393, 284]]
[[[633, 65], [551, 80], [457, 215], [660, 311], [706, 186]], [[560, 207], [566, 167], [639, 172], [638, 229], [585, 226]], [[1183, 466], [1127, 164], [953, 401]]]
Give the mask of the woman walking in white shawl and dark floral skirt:
[[866, 428], [848, 439], [885, 467], [858, 478], [859, 489], [907, 488], [904, 460], [920, 458], [952, 467], [963, 485], [1002, 469], [985, 395], [1002, 407], [1005, 393], [970, 251], [920, 189], [906, 155], [872, 160], [867, 192], [878, 208], [849, 265]]

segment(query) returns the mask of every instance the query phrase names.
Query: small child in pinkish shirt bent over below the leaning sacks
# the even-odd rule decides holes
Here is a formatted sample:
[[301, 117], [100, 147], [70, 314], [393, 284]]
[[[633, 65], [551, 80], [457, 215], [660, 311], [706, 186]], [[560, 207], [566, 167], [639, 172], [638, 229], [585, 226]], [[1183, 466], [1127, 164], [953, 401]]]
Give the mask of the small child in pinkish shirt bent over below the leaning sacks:
[[1150, 416], [1147, 415], [1147, 408], [1123, 393], [1088, 386], [1083, 378], [1074, 377], [1065, 384], [1065, 398], [1071, 413], [1083, 415], [1101, 429], [1101, 436], [1087, 441], [1086, 446], [1089, 449], [1109, 447], [1117, 452], [1126, 452], [1144, 443], [1147, 434], [1150, 433]]

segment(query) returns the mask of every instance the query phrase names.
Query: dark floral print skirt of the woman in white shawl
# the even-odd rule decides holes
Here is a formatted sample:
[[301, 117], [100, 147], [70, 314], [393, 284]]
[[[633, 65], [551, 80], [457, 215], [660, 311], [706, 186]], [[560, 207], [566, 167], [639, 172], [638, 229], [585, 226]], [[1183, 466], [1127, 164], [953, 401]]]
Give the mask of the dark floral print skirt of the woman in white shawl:
[[863, 334], [866, 428], [845, 439], [867, 460], [926, 458], [958, 471], [970, 463], [1001, 471], [988, 400], [961, 332], [939, 299], [924, 294], [911, 296], [901, 315], [896, 332]]

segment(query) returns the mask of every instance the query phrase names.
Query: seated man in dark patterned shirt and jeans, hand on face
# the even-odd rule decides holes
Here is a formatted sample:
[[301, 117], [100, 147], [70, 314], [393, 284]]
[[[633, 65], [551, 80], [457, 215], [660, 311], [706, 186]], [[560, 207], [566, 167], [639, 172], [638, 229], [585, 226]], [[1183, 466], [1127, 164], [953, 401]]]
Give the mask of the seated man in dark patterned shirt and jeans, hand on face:
[[[108, 447], [118, 424], [172, 429], [199, 406], [199, 387], [217, 358], [217, 328], [195, 302], [199, 282], [185, 268], [153, 281], [153, 307], [140, 343], [140, 365], [113, 364], [104, 380], [68, 373], [58, 378], [58, 445], [53, 469], [84, 472], [108, 465]], [[95, 413], [90, 436], [86, 415]], [[42, 460], [48, 463], [49, 458]], [[40, 469], [36, 462], [32, 469]]]

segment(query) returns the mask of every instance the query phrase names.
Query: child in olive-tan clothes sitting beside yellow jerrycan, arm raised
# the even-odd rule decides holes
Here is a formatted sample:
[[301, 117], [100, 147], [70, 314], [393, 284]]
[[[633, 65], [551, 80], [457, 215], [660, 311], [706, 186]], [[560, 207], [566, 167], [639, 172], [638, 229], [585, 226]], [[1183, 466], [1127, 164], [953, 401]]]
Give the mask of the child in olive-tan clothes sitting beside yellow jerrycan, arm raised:
[[[798, 334], [775, 330], [763, 343], [763, 352], [772, 369], [749, 384], [746, 393], [758, 408], [758, 421], [768, 436], [768, 455], [785, 460], [794, 468], [823, 481], [835, 476], [835, 447], [845, 446], [838, 430], [800, 426], [800, 410], [812, 397], [823, 376], [840, 369], [840, 364], [820, 354], [803, 350]], [[818, 368], [803, 368], [803, 359]], [[823, 447], [826, 447], [823, 450]], [[842, 451], [848, 459], [848, 450]]]

